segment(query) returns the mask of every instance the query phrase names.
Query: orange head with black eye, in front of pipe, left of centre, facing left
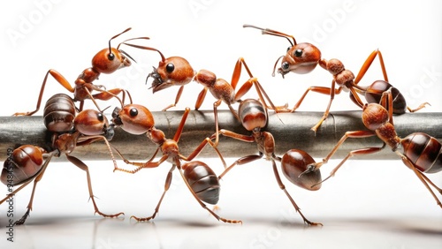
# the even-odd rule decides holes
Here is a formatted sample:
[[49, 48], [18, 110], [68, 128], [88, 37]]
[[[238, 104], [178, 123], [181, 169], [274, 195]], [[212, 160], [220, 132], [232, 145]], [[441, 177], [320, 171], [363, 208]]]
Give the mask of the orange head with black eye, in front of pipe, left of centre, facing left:
[[154, 127], [155, 120], [146, 107], [139, 104], [128, 104], [123, 108], [116, 107], [112, 112], [112, 124], [134, 135], [148, 132]]

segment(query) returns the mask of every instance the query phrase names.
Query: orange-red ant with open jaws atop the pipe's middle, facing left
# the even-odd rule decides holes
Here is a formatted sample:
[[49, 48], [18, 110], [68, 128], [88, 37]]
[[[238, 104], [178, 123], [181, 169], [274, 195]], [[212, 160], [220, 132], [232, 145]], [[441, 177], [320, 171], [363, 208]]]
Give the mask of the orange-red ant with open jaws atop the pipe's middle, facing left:
[[[270, 97], [265, 93], [258, 79], [256, 79], [253, 76], [252, 72], [250, 72], [248, 64], [246, 64], [246, 61], [242, 57], [240, 57], [235, 64], [232, 72], [232, 80], [230, 81], [231, 83], [229, 83], [225, 79], [217, 78], [217, 75], [214, 72], [210, 72], [208, 70], [202, 69], [199, 72], [195, 72], [189, 62], [183, 57], [166, 58], [164, 57], [163, 53], [158, 49], [126, 42], [124, 42], [124, 44], [137, 49], [148, 49], [159, 53], [161, 61], [159, 62], [158, 67], [154, 67], [154, 71], [149, 73], [148, 75], [148, 79], [149, 77], [152, 77], [154, 79], [152, 81], [152, 89], [154, 94], [157, 91], [171, 86], [180, 86], [175, 97], [175, 102], [173, 104], [170, 104], [163, 110], [170, 109], [177, 105], [177, 103], [179, 102], [179, 98], [183, 92], [184, 86], [192, 81], [192, 79], [204, 87], [200, 94], [198, 94], [198, 97], [196, 99], [194, 106], [195, 110], [200, 109], [200, 107], [202, 106], [202, 102], [204, 102], [207, 91], [209, 90], [213, 97], [217, 99], [217, 101], [213, 103], [213, 111], [216, 125], [215, 129], [217, 134], [219, 130], [217, 121], [217, 107], [222, 102], [225, 102], [225, 104], [227, 104], [227, 106], [231, 110], [233, 116], [236, 117], [236, 119], [240, 122], [240, 117], [232, 108], [232, 104], [236, 102], [241, 102], [241, 97], [244, 96], [244, 94], [247, 94], [252, 86], [255, 86], [256, 93], [259, 95], [260, 99], [263, 100], [263, 103], [267, 109], [274, 109], [276, 112], [286, 110], [286, 106], [277, 107], [273, 104], [273, 102], [271, 102]], [[242, 66], [244, 66], [244, 68], [248, 72], [249, 79], [240, 87], [238, 91], [236, 91], [235, 89], [238, 81], [240, 80]], [[270, 106], [267, 105], [265, 100], [270, 103]], [[217, 136], [217, 139], [215, 140], [212, 147], [217, 147], [218, 141], [219, 140]]]

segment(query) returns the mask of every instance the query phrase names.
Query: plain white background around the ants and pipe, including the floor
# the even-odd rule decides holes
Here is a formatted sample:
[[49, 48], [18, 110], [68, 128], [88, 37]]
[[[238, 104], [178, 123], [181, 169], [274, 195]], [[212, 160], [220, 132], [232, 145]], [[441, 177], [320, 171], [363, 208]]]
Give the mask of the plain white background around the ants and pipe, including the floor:
[[[143, 44], [163, 51], [165, 57], [186, 57], [194, 70], [202, 68], [230, 79], [233, 64], [245, 57], [250, 69], [277, 104], [298, 100], [309, 86], [328, 87], [331, 75], [321, 68], [307, 75], [271, 77], [273, 64], [289, 43], [245, 23], [293, 34], [309, 41], [324, 58], [339, 58], [357, 73], [374, 49], [383, 52], [392, 84], [412, 107], [431, 102], [423, 111], [440, 112], [441, 4], [439, 1], [16, 1], [2, 2], [3, 97], [0, 115], [34, 109], [48, 69], [74, 79], [95, 53], [107, 47], [111, 36], [133, 27], [126, 38], [149, 36]], [[143, 3], [144, 2], [144, 3]], [[39, 4], [45, 3], [45, 4]], [[134, 102], [160, 110], [173, 102], [177, 88], [152, 94], [145, 79], [159, 57], [154, 52], [125, 49], [137, 61], [132, 69], [102, 75], [96, 84], [124, 87]], [[381, 79], [377, 61], [362, 80]], [[242, 77], [240, 81], [246, 80]], [[150, 83], [150, 81], [149, 81]], [[201, 86], [185, 87], [175, 109], [193, 107]], [[50, 79], [43, 101], [67, 93]], [[250, 93], [250, 97], [254, 97]], [[211, 109], [208, 94], [202, 109]], [[323, 111], [327, 96], [310, 94], [300, 110]], [[110, 104], [116, 104], [111, 103]], [[224, 107], [224, 106], [223, 106]], [[356, 109], [347, 94], [336, 97], [331, 110]], [[37, 115], [41, 115], [39, 112]], [[310, 132], [310, 131], [306, 131]], [[405, 136], [407, 134], [402, 134]], [[278, 143], [278, 141], [277, 141]], [[5, 152], [4, 152], [5, 153]], [[235, 160], [228, 159], [229, 162]], [[54, 160], [55, 161], [55, 160]], [[210, 162], [209, 159], [203, 159]], [[324, 167], [324, 175], [332, 165]], [[244, 224], [217, 223], [193, 200], [175, 172], [155, 223], [134, 223], [130, 215], [150, 215], [162, 192], [167, 163], [136, 175], [112, 173], [110, 162], [87, 162], [98, 206], [105, 213], [126, 212], [126, 218], [102, 219], [93, 215], [84, 172], [69, 163], [52, 162], [34, 198], [27, 225], [6, 241], [7, 205], [0, 207], [0, 245], [21, 248], [440, 248], [442, 210], [415, 175], [397, 161], [349, 161], [319, 192], [290, 185], [289, 192], [311, 221], [322, 229], [302, 225], [299, 215], [278, 189], [270, 162], [232, 170], [222, 182], [220, 215]], [[327, 168], [327, 169], [325, 169]], [[220, 170], [220, 168], [214, 169]], [[442, 178], [430, 176], [441, 185]], [[286, 179], [283, 179], [286, 180]], [[15, 197], [16, 215], [22, 215], [29, 185]], [[440, 197], [440, 195], [438, 195]]]

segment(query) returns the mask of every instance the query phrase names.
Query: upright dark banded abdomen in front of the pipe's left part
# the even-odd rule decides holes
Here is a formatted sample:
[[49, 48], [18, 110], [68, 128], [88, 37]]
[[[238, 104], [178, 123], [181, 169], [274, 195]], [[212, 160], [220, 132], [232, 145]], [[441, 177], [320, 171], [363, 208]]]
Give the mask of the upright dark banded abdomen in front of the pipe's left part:
[[67, 94], [55, 94], [44, 106], [44, 125], [50, 132], [69, 132], [73, 128], [75, 104]]

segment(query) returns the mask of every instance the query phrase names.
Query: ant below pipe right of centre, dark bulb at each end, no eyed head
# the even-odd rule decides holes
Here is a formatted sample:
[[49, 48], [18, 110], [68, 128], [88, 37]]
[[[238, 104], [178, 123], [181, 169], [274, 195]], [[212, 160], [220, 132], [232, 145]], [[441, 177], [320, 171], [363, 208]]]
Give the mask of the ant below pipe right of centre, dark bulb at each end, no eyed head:
[[[240, 102], [240, 107], [238, 113], [241, 118], [242, 126], [252, 132], [251, 135], [242, 135], [239, 133], [227, 131], [221, 129], [219, 132], [235, 140], [241, 140], [245, 142], [253, 143], [255, 142], [258, 147], [258, 155], [246, 155], [241, 157], [232, 163], [231, 166], [227, 167], [225, 171], [219, 175], [218, 179], [221, 179], [225, 174], [232, 170], [236, 165], [242, 165], [248, 162], [254, 162], [260, 158], [264, 158], [271, 161], [273, 168], [273, 173], [275, 174], [279, 188], [286, 193], [287, 198], [292, 202], [293, 207], [301, 215], [304, 223], [309, 225], [322, 225], [321, 223], [312, 223], [301, 213], [301, 208], [294, 202], [292, 196], [286, 191], [286, 186], [282, 183], [279, 177], [277, 165], [275, 161], [281, 162], [281, 168], [283, 169], [284, 175], [294, 184], [308, 190], [318, 190], [321, 185], [316, 185], [315, 188], [310, 188], [311, 185], [316, 184], [321, 181], [320, 171], [307, 172], [305, 177], [299, 177], [302, 172], [307, 170], [307, 166], [310, 163], [315, 162], [313, 158], [301, 151], [301, 150], [289, 150], [281, 157], [275, 155], [275, 140], [271, 132], [263, 132], [261, 129], [267, 125], [267, 109], [263, 107], [263, 103], [256, 101], [254, 99], [247, 99]], [[212, 135], [212, 138], [215, 136]]]

